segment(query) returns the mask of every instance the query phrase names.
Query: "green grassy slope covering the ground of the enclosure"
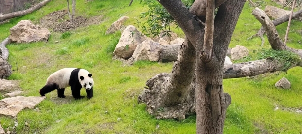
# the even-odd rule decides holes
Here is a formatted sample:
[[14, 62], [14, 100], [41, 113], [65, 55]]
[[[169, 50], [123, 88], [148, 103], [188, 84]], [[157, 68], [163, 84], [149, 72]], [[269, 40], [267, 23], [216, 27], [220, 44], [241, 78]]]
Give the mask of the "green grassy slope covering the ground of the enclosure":
[[[137, 104], [137, 96], [143, 90], [147, 79], [161, 72], [170, 72], [172, 63], [138, 62], [134, 66], [123, 67], [120, 61], [111, 60], [112, 51], [117, 44], [120, 32], [104, 35], [112, 22], [123, 15], [130, 19], [127, 25], [135, 25], [136, 18], [142, 12], [142, 6], [130, 0], [94, 0], [77, 1], [77, 15], [103, 15], [101, 24], [91, 25], [71, 31], [71, 35], [61, 39], [62, 33], [52, 32], [47, 43], [10, 44], [9, 61], [14, 73], [10, 79], [20, 80], [25, 96], [39, 96], [38, 90], [44, 86], [49, 74], [63, 67], [79, 67], [89, 70], [95, 80], [94, 97], [91, 100], [75, 101], [71, 90], [66, 89], [66, 99], [58, 99], [56, 91], [47, 94], [47, 99], [37, 107], [39, 112], [23, 110], [18, 114], [18, 134], [194, 134], [195, 116], [179, 122], [175, 120], [157, 120], [149, 116], [144, 104]], [[273, 5], [270, 0], [266, 0]], [[43, 15], [66, 9], [64, 0], [52, 0], [42, 9], [23, 17], [11, 19], [10, 23], [0, 25], [0, 40], [9, 35], [9, 28], [20, 20], [31, 19], [38, 23]], [[255, 34], [260, 23], [250, 14], [246, 3], [239, 18], [230, 47], [244, 45], [249, 50], [260, 48], [260, 39], [247, 41]], [[102, 21], [102, 20], [100, 20]], [[284, 38], [287, 23], [277, 27]], [[293, 21], [289, 33], [288, 45], [302, 49], [297, 43], [301, 40], [302, 23]], [[300, 30], [300, 31], [299, 31]], [[181, 30], [176, 31], [183, 36]], [[55, 44], [55, 41], [59, 43]], [[270, 48], [267, 39], [265, 48]], [[254, 55], [252, 51], [251, 55]], [[17, 65], [18, 64], [18, 71]], [[302, 107], [301, 68], [294, 68], [287, 74], [266, 74], [257, 78], [225, 79], [224, 89], [232, 96], [232, 104], [227, 111], [225, 134], [252, 133], [302, 133], [302, 115], [277, 110], [280, 108]], [[276, 89], [274, 83], [282, 77], [292, 82], [291, 90]], [[82, 90], [82, 95], [85, 91]], [[63, 100], [63, 101], [62, 101]], [[107, 111], [105, 113], [105, 111]], [[117, 121], [121, 118], [121, 121]], [[60, 120], [60, 122], [56, 122]], [[11, 128], [12, 119], [0, 117], [4, 128]], [[25, 122], [29, 126], [25, 126]], [[155, 129], [159, 124], [160, 128]]]

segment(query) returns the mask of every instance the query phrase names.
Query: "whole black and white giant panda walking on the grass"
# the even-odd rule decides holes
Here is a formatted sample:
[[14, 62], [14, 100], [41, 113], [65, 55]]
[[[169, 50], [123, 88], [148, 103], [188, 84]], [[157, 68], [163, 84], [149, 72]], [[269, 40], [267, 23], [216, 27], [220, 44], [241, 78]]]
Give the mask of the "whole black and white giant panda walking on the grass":
[[72, 96], [75, 99], [82, 99], [85, 96], [80, 95], [80, 90], [83, 87], [86, 89], [87, 98], [93, 97], [93, 78], [85, 69], [80, 68], [63, 68], [53, 74], [51, 74], [47, 80], [45, 86], [40, 89], [41, 96], [45, 96], [57, 89], [58, 97], [65, 98], [64, 91], [66, 87], [71, 87]]

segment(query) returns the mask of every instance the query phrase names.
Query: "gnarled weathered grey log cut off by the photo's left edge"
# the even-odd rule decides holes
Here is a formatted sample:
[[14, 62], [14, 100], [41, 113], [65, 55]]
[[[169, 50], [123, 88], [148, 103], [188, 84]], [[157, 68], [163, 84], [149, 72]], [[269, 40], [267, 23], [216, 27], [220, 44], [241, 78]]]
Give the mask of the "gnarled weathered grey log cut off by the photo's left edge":
[[9, 38], [6, 38], [0, 44], [0, 78], [9, 77], [12, 74], [12, 66], [7, 62], [8, 49], [5, 47], [10, 42]]

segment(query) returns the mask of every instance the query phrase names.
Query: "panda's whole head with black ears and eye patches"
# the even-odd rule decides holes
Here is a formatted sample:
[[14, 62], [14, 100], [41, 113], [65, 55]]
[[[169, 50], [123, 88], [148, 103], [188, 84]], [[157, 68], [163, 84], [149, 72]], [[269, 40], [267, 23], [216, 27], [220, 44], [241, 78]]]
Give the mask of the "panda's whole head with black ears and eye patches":
[[81, 70], [80, 70], [81, 73], [79, 73], [79, 76], [80, 76], [80, 80], [81, 80], [80, 83], [81, 83], [82, 87], [85, 88], [86, 90], [92, 89], [92, 87], [94, 85], [92, 74], [90, 74], [86, 70], [83, 70], [83, 71], [81, 71]]

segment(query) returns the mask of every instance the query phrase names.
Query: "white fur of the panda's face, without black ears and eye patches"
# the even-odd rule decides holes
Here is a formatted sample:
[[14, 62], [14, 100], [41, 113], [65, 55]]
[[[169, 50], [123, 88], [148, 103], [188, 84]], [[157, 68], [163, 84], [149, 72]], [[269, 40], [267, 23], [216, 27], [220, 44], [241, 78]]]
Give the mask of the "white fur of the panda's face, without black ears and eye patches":
[[[87, 90], [90, 90], [93, 87], [94, 82], [93, 82], [93, 78], [89, 77], [88, 74], [89, 74], [89, 72], [87, 70], [80, 69], [79, 74], [78, 74], [78, 78], [79, 78], [79, 81], [80, 81], [82, 87], [87, 89]], [[81, 76], [84, 77], [84, 80], [80, 79]], [[91, 83], [91, 86], [89, 85], [89, 83]], [[86, 84], [86, 87], [84, 87], [85, 84]]]

